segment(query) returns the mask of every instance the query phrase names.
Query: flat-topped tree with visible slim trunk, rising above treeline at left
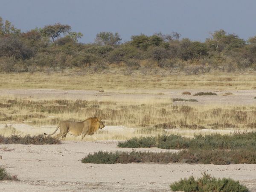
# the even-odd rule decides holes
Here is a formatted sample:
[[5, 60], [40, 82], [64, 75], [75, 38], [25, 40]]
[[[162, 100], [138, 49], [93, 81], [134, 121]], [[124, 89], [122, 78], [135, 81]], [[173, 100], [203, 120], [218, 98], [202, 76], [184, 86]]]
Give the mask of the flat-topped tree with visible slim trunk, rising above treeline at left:
[[70, 32], [71, 27], [69, 25], [62, 25], [61, 23], [56, 23], [54, 25], [47, 25], [44, 26], [43, 29], [41, 29], [41, 32], [44, 36], [52, 38], [53, 47], [55, 46], [54, 39], [58, 38], [61, 33], [66, 34], [67, 32]]

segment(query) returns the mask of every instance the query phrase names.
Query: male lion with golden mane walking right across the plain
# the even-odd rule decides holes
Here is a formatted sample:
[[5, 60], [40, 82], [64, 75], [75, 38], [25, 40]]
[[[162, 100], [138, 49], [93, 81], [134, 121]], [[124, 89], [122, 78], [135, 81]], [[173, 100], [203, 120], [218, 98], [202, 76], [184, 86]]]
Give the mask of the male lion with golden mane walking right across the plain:
[[[104, 123], [98, 118], [98, 117], [89, 117], [88, 119], [85, 119], [82, 122], [73, 122], [73, 121], [61, 121], [55, 131], [52, 134], [56, 133], [58, 128], [60, 128], [60, 133], [55, 136], [55, 138], [62, 137], [65, 138], [67, 136], [67, 133], [73, 135], [73, 136], [79, 136], [81, 135], [81, 140], [83, 140], [85, 135], [92, 135], [94, 134], [98, 129], [104, 128]], [[44, 133], [45, 135], [48, 135]]]

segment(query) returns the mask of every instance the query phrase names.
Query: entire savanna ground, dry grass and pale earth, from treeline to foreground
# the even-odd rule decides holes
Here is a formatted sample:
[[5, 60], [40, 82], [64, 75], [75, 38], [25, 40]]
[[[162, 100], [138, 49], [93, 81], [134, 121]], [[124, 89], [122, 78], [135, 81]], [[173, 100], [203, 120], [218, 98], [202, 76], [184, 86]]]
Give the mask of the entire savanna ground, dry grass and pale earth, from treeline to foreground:
[[[97, 151], [118, 148], [118, 140], [159, 134], [254, 131], [256, 76], [209, 73], [200, 76], [152, 73], [123, 75], [119, 71], [89, 75], [62, 73], [0, 74], [0, 134], [52, 133], [61, 120], [99, 116], [106, 127], [77, 141], [68, 136], [60, 145], [0, 145], [0, 166], [20, 181], [1, 181], [1, 191], [169, 191], [183, 177], [239, 180], [256, 191], [255, 164], [131, 163], [85, 164]], [[183, 92], [191, 95], [183, 95]], [[212, 96], [193, 96], [198, 92]], [[173, 99], [196, 99], [198, 102]], [[58, 132], [57, 132], [58, 133]], [[136, 148], [136, 151], [179, 151]]]

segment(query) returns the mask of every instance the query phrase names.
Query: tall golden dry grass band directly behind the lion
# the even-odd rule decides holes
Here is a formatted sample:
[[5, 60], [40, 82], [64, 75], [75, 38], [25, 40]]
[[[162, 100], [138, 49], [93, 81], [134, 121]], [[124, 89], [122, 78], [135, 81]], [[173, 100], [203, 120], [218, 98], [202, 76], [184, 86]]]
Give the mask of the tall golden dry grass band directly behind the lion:
[[[152, 101], [153, 100], [153, 101]], [[182, 105], [152, 99], [141, 104], [87, 100], [0, 100], [0, 122], [56, 125], [61, 120], [81, 121], [99, 116], [106, 125], [154, 128], [256, 128], [256, 106]]]

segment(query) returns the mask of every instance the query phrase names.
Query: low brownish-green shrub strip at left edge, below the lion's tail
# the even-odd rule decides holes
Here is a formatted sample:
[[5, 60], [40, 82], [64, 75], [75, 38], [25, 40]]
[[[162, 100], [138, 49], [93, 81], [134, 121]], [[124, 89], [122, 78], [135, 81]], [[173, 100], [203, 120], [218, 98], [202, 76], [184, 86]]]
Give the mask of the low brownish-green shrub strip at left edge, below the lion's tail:
[[0, 135], [1, 144], [34, 144], [34, 145], [43, 145], [43, 144], [60, 144], [61, 142], [53, 137], [45, 137], [43, 134], [30, 136], [26, 135], [24, 137], [18, 135], [12, 135], [10, 137], [3, 137]]

